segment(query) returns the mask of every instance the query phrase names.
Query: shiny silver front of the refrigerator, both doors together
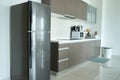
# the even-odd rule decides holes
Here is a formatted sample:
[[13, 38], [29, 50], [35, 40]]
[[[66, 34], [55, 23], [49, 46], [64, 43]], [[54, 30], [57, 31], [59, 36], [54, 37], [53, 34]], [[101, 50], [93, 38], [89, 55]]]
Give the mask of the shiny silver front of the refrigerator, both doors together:
[[50, 79], [50, 7], [31, 3], [29, 79]]

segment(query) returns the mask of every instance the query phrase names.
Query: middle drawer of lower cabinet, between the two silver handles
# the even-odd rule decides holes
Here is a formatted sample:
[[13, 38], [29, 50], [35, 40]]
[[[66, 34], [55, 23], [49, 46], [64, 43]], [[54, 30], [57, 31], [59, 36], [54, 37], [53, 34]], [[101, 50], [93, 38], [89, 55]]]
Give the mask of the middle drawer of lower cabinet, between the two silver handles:
[[59, 60], [69, 57], [69, 47], [59, 48]]

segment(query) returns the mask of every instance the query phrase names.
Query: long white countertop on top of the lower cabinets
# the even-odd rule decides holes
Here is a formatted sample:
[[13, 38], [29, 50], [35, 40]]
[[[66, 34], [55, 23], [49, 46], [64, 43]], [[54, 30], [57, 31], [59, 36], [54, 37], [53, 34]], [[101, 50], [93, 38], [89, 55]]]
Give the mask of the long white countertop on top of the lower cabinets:
[[101, 39], [81, 39], [81, 40], [55, 39], [55, 40], [51, 40], [51, 42], [66, 44], [66, 43], [86, 42], [86, 41], [94, 41], [94, 40], [101, 40]]

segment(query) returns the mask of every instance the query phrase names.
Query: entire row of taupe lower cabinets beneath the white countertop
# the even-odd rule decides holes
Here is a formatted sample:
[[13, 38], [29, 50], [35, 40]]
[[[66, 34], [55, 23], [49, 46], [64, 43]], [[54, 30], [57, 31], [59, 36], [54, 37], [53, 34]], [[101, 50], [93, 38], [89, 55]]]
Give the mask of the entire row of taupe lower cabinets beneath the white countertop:
[[59, 44], [51, 42], [51, 70], [63, 71], [100, 54], [101, 40]]

